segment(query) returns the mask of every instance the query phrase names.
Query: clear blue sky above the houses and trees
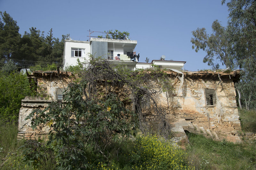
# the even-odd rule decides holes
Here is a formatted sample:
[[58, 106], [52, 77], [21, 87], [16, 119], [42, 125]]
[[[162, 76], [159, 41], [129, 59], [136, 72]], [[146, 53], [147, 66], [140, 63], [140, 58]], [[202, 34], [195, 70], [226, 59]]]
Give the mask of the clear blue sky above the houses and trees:
[[135, 51], [140, 52], [140, 62], [165, 55], [166, 60], [186, 61], [184, 68], [191, 71], [211, 68], [203, 63], [206, 53], [192, 49], [191, 32], [204, 27], [212, 33], [215, 19], [222, 26], [228, 21], [228, 8], [221, 0], [0, 0], [0, 11], [17, 21], [21, 35], [32, 26], [45, 35], [52, 28], [54, 37], [69, 33], [81, 41], [89, 39], [89, 29], [128, 31], [129, 38], [138, 41]]

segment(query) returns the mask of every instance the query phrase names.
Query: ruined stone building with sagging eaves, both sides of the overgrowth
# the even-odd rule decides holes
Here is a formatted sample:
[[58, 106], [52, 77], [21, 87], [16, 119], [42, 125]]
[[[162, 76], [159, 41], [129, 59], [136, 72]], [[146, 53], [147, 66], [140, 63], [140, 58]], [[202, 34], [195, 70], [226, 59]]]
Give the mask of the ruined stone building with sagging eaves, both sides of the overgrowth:
[[[240, 78], [240, 71], [212, 72], [212, 71], [177, 71], [167, 70], [172, 79], [174, 92], [168, 100], [163, 92], [160, 95], [162, 107], [170, 110], [166, 116], [173, 124], [176, 139], [184, 138], [184, 130], [203, 134], [214, 139], [220, 136], [230, 141], [239, 142], [238, 131], [241, 125], [236, 105], [236, 91], [234, 82]], [[45, 94], [42, 99], [24, 99], [19, 114], [18, 139], [35, 139], [47, 135], [50, 127], [38, 126], [31, 128], [30, 120], [25, 118], [35, 108], [44, 108], [52, 100], [61, 100], [62, 92], [74, 80], [70, 72], [35, 71], [28, 75], [28, 79], [35, 80], [37, 89]], [[168, 103], [167, 103], [168, 101]], [[185, 137], [186, 138], [186, 137]]]

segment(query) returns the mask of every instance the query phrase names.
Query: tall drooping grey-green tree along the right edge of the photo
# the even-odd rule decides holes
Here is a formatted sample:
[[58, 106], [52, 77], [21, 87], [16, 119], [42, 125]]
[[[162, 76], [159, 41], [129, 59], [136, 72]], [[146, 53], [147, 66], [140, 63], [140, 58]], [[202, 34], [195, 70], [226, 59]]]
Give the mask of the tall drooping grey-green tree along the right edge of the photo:
[[235, 56], [237, 66], [244, 70], [236, 87], [246, 108], [256, 109], [256, 1], [230, 0], [227, 6], [229, 52]]

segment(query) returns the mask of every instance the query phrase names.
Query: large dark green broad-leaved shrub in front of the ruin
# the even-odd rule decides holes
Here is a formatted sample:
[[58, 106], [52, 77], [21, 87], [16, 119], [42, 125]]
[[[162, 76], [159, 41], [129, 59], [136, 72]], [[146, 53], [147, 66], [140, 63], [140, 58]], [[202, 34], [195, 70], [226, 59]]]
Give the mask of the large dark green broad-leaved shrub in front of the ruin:
[[[52, 102], [44, 110], [34, 110], [27, 117], [32, 118], [34, 129], [41, 123], [52, 128], [46, 148], [51, 148], [54, 153], [58, 169], [86, 168], [89, 164], [84, 148], [88, 143], [99, 146], [98, 152], [104, 151], [111, 141], [129, 137], [135, 130], [136, 115], [125, 109], [116, 95], [109, 94], [104, 99], [83, 99], [86, 84], [70, 84], [65, 103]], [[35, 167], [40, 166], [37, 160], [42, 159], [40, 153], [42, 150], [45, 152], [44, 146], [31, 141], [24, 147], [24, 160]]]

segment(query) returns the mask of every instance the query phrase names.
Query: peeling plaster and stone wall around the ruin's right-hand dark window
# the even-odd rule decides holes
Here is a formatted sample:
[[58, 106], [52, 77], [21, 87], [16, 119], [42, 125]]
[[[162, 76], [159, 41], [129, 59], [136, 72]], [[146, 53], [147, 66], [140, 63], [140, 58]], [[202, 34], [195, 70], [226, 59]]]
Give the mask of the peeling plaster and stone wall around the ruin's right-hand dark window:
[[[223, 134], [236, 134], [238, 130], [241, 130], [232, 79], [220, 81], [212, 78], [184, 78], [180, 94], [179, 87], [180, 81], [176, 83], [174, 92], [168, 99], [171, 114], [176, 118], [186, 118], [199, 126], [211, 128]], [[206, 105], [205, 89], [216, 90], [217, 102], [220, 107]], [[165, 92], [162, 92], [161, 96], [163, 105], [168, 107]], [[207, 114], [209, 114], [210, 120], [208, 120]]]

